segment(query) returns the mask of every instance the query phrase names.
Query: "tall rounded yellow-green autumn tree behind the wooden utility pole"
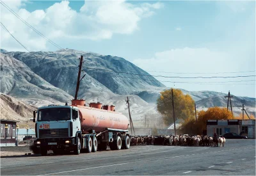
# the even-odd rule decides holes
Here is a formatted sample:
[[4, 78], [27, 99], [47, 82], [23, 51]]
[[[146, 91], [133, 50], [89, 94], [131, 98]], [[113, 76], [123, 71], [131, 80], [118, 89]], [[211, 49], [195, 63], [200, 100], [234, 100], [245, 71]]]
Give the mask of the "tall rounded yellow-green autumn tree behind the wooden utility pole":
[[[190, 95], [184, 95], [181, 90], [173, 89], [175, 119], [192, 118], [195, 116], [195, 101]], [[163, 116], [164, 124], [173, 123], [172, 89], [161, 92], [157, 99], [157, 111]]]

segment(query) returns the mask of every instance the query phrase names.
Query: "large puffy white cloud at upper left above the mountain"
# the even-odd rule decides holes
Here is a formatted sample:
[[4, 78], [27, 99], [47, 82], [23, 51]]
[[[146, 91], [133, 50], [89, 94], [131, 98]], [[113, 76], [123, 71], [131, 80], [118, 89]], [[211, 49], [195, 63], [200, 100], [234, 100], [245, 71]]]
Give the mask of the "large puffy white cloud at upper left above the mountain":
[[[115, 34], [131, 35], [139, 29], [141, 19], [150, 17], [154, 10], [163, 7], [159, 2], [135, 5], [126, 1], [84, 1], [80, 11], [76, 12], [68, 1], [61, 1], [46, 10], [28, 12], [21, 8], [24, 5], [20, 1], [6, 2], [22, 19], [54, 41], [60, 38], [102, 40]], [[47, 42], [4, 7], [1, 8], [1, 22], [32, 51], [47, 48]], [[2, 31], [1, 47], [7, 50], [16, 48], [15, 41]], [[34, 45], [33, 41], [40, 43]]]

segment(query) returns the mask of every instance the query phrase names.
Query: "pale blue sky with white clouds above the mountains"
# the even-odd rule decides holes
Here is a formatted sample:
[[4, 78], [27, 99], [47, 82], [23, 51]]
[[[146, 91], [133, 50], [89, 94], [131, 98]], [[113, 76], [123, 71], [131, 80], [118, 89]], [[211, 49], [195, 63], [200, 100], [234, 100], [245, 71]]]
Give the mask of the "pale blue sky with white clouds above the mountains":
[[[125, 58], [168, 87], [255, 97], [255, 1], [3, 2], [62, 48]], [[1, 22], [29, 51], [58, 50], [3, 4]], [[1, 49], [26, 51], [0, 29]]]

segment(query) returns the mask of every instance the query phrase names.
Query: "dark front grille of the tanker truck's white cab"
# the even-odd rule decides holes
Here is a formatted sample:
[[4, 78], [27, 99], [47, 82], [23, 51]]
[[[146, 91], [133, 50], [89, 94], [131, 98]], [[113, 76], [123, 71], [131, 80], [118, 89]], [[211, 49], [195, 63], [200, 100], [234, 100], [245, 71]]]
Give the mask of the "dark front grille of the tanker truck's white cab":
[[68, 129], [39, 129], [39, 138], [68, 137]]

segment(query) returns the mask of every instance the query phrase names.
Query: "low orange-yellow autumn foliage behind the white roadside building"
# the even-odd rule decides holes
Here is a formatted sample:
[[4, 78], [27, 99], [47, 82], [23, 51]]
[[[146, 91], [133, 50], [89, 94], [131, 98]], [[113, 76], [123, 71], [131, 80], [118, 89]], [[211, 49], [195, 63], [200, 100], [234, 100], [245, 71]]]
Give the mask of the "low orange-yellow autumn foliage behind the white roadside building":
[[227, 108], [208, 108], [207, 111], [198, 112], [197, 121], [195, 121], [195, 118], [185, 120], [181, 125], [181, 130], [184, 134], [202, 134], [206, 130], [207, 120], [227, 120], [232, 118], [232, 113]]

